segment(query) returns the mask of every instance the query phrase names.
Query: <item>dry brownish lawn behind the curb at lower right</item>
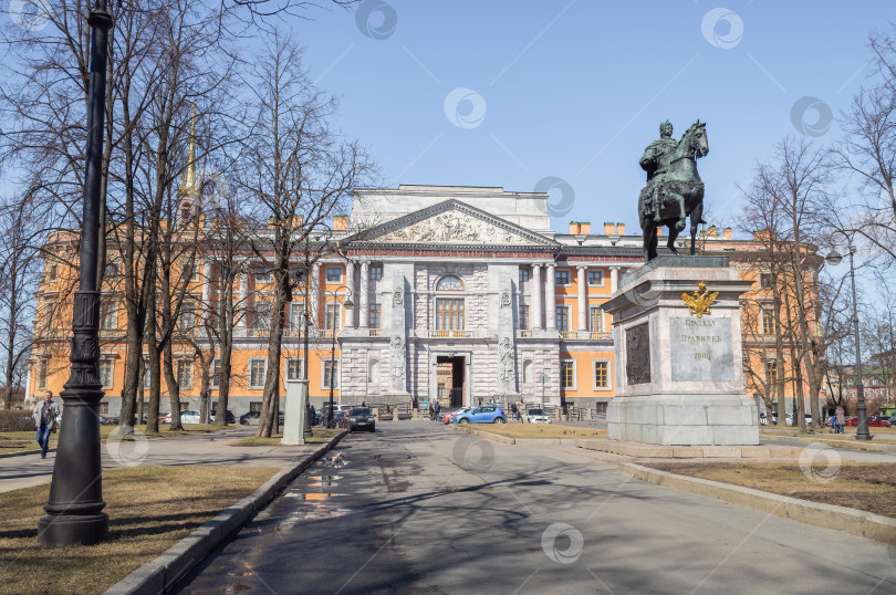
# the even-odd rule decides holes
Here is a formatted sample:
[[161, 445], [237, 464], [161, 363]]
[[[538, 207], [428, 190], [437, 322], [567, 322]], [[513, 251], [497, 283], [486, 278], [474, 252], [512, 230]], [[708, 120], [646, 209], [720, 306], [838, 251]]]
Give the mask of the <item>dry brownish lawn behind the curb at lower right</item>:
[[836, 504], [896, 518], [896, 464], [830, 464], [823, 457], [805, 472], [792, 462], [640, 463], [661, 471], [733, 483], [763, 492]]

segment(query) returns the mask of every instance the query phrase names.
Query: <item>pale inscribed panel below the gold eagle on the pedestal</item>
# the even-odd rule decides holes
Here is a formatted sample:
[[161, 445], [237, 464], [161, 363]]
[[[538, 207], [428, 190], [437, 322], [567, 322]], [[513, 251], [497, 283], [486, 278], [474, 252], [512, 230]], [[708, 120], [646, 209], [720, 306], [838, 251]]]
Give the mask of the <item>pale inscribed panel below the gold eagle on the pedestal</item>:
[[731, 320], [669, 319], [671, 379], [679, 383], [734, 379]]

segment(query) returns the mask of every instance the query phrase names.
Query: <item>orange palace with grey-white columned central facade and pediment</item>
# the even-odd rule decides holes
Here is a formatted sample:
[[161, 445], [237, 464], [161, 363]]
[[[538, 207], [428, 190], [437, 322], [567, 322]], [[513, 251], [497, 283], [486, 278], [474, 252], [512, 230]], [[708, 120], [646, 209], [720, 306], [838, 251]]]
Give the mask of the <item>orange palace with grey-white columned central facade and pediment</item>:
[[[345, 404], [414, 399], [423, 405], [437, 398], [451, 407], [497, 397], [601, 408], [615, 383], [611, 320], [601, 304], [627, 270], [642, 264], [640, 230], [626, 234], [623, 223], [587, 222], [554, 230], [548, 199], [502, 188], [355, 190], [351, 217], [334, 217], [326, 231], [330, 244], [341, 242], [344, 249], [313, 265], [304, 293], [309, 303], [296, 293], [288, 305], [283, 376], [296, 377], [306, 358], [310, 396], [317, 406], [330, 396], [332, 372], [334, 398]], [[48, 252], [62, 250], [73, 237], [54, 233]], [[753, 243], [713, 227], [700, 240], [702, 252], [730, 252], [734, 265], [736, 255]], [[236, 328], [229, 401], [237, 416], [260, 407], [272, 293], [270, 271], [251, 251], [243, 257], [237, 290], [243, 315]], [[181, 399], [191, 409], [198, 409], [201, 384], [194, 345], [211, 347], [205, 333], [188, 326], [201, 317], [197, 305], [213, 307], [219, 267], [206, 254], [196, 268], [189, 285], [194, 305], [185, 305], [183, 316], [190, 319], [181, 328], [192, 333], [192, 343], [174, 341]], [[27, 387], [32, 399], [46, 388], [58, 394], [69, 375], [71, 293], [61, 284], [73, 275], [62, 268], [48, 261], [38, 292]], [[756, 270], [740, 268], [744, 279], [756, 281], [756, 292], [767, 289]], [[111, 285], [102, 304], [103, 408], [117, 415], [126, 316]], [[308, 353], [300, 322], [305, 311]], [[164, 386], [162, 394], [162, 410], [168, 410]], [[217, 396], [215, 382], [209, 396]]]

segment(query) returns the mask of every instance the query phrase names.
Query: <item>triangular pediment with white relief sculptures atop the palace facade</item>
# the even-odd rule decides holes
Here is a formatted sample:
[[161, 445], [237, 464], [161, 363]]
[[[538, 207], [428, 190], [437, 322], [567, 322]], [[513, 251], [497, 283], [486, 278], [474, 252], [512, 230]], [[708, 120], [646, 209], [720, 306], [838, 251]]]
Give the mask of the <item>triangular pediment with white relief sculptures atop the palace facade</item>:
[[554, 247], [553, 240], [458, 200], [446, 200], [364, 233], [372, 243]]

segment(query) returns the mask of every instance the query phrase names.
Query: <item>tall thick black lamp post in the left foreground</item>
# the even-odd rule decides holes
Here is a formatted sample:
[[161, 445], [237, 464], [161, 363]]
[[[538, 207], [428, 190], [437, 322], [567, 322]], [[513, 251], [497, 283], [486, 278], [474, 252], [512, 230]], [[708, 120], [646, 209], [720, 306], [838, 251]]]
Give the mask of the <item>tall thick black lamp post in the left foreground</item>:
[[96, 0], [87, 19], [91, 27], [90, 87], [87, 91], [86, 171], [81, 223], [81, 275], [74, 295], [71, 375], [61, 393], [62, 430], [46, 515], [38, 522], [38, 542], [44, 547], [91, 545], [108, 539], [108, 515], [103, 512], [100, 464], [100, 291], [96, 286], [100, 250], [100, 191], [103, 129], [106, 106], [106, 62], [112, 17], [106, 0]]

